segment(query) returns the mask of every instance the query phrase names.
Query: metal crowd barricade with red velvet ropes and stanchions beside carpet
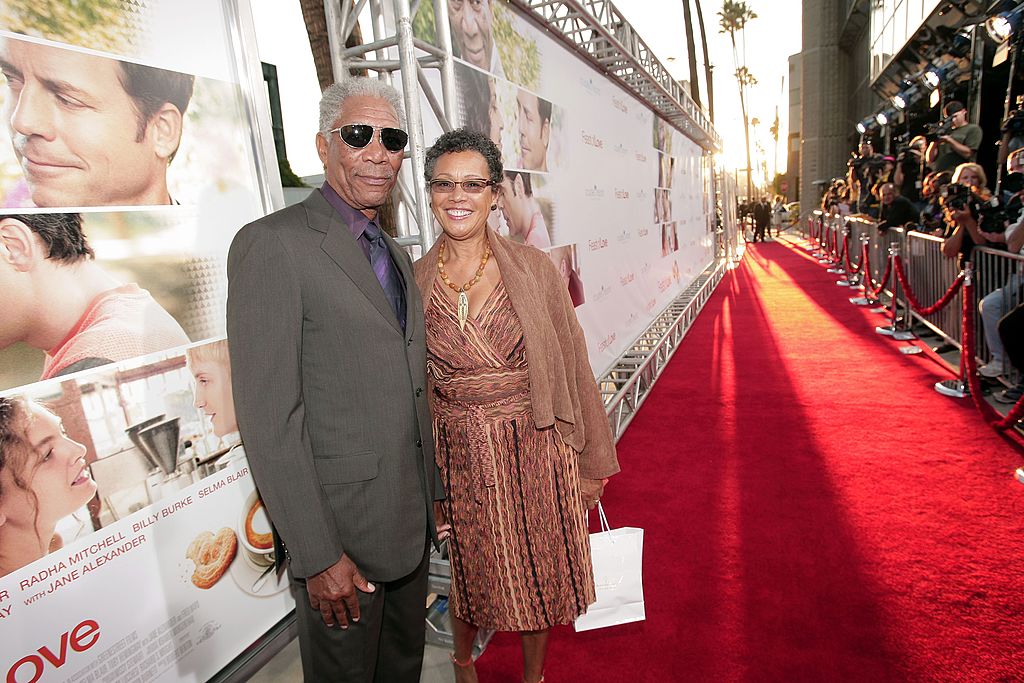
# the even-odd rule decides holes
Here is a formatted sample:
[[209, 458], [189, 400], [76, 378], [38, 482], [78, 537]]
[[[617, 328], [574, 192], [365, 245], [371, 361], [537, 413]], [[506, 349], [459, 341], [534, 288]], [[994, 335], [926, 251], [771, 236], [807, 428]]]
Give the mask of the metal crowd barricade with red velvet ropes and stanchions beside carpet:
[[[905, 331], [911, 322], [926, 326], [961, 350], [961, 380], [971, 387], [970, 393], [989, 424], [1006, 429], [1024, 417], [1024, 399], [1006, 417], [997, 414], [982, 398], [977, 372], [980, 365], [992, 359], [982, 311], [994, 306], [1006, 313], [1024, 302], [1024, 256], [977, 247], [971, 261], [962, 262], [942, 254], [942, 238], [937, 236], [904, 228], [881, 232], [869, 219], [844, 219], [820, 211], [808, 217], [802, 231], [808, 250], [822, 255], [822, 263], [842, 262], [848, 282], [838, 284], [857, 285], [869, 303], [888, 304], [892, 325], [877, 328], [880, 333], [908, 339], [912, 335]], [[861, 302], [858, 298], [851, 301]], [[989, 315], [994, 312], [989, 311]], [[899, 337], [900, 333], [907, 336]], [[1004, 377], [1010, 382], [1021, 380], [1009, 365]]]

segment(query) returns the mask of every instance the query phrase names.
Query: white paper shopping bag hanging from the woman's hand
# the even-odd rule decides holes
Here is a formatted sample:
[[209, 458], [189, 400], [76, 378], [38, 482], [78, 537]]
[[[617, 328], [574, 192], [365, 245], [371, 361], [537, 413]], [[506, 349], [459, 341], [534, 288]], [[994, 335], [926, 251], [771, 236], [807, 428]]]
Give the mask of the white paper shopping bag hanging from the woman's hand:
[[597, 602], [575, 621], [577, 631], [603, 629], [618, 624], [642, 622], [643, 529], [631, 526], [612, 529], [604, 508], [597, 504], [601, 531], [590, 535]]

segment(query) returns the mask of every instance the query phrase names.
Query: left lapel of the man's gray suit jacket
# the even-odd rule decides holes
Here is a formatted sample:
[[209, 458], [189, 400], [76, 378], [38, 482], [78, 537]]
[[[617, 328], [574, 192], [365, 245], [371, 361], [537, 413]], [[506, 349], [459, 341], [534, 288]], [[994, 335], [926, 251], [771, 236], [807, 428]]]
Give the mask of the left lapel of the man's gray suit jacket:
[[394, 310], [384, 295], [384, 290], [381, 288], [377, 275], [374, 274], [370, 261], [367, 260], [366, 254], [362, 253], [359, 244], [348, 229], [348, 225], [341, 219], [334, 207], [324, 199], [318, 189], [314, 189], [303, 204], [308, 210], [309, 226], [325, 232], [324, 241], [321, 243], [321, 249], [324, 253], [359, 288], [362, 295], [370, 300], [370, 303], [380, 311], [380, 314], [391, 324], [395, 331], [401, 333], [401, 326], [398, 325]]

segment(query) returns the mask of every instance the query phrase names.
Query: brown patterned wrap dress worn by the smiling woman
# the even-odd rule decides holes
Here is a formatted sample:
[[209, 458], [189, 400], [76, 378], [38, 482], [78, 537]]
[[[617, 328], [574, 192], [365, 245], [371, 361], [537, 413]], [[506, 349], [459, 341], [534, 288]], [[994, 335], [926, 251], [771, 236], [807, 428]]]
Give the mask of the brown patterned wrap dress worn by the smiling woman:
[[577, 454], [534, 425], [522, 329], [504, 285], [463, 331], [435, 281], [426, 328], [452, 524], [449, 606], [496, 631], [571, 623], [594, 601]]

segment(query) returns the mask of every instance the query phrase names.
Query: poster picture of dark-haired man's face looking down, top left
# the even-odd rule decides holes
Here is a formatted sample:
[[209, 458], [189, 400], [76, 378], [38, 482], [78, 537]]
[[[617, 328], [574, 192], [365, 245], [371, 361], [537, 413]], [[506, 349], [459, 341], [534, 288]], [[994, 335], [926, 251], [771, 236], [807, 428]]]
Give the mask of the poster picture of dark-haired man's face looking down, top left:
[[22, 178], [4, 206], [166, 205], [195, 78], [0, 37], [4, 123]]

